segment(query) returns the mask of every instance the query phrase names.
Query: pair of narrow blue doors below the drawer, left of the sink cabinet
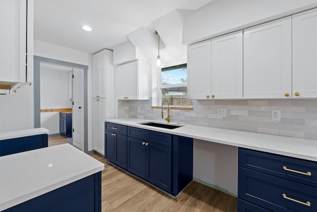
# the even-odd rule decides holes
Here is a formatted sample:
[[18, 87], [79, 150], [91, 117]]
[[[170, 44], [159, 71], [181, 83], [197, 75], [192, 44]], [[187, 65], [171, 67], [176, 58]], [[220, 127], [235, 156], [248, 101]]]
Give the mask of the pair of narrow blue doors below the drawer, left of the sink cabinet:
[[105, 131], [105, 158], [110, 162], [127, 168], [127, 137]]

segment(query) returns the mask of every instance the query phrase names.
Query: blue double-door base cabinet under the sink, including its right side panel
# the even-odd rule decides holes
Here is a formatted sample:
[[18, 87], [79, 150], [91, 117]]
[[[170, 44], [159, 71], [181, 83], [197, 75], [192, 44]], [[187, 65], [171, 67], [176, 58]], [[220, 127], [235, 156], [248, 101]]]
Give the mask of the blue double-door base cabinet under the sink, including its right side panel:
[[177, 196], [193, 180], [193, 139], [128, 127], [127, 170]]

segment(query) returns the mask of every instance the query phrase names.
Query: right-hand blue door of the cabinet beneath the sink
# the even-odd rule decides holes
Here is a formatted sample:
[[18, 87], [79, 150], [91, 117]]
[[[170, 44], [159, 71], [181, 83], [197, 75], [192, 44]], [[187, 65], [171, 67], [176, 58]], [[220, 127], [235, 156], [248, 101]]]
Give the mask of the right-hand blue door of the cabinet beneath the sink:
[[147, 142], [146, 180], [171, 193], [172, 151], [170, 147]]

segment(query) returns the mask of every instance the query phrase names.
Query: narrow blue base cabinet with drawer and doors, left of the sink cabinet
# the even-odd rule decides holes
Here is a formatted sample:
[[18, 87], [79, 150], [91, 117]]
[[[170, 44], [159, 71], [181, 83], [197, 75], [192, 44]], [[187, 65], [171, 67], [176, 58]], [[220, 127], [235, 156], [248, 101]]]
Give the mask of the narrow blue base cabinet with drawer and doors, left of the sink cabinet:
[[127, 127], [105, 123], [105, 158], [127, 169]]

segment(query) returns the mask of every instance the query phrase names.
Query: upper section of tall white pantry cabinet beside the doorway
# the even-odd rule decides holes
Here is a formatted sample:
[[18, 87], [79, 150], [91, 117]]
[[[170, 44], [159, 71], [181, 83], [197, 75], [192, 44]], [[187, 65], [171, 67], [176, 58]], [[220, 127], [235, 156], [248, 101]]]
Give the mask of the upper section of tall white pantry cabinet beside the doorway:
[[112, 61], [113, 52], [107, 49], [93, 55], [93, 98], [106, 98], [107, 95], [113, 93], [114, 66]]

